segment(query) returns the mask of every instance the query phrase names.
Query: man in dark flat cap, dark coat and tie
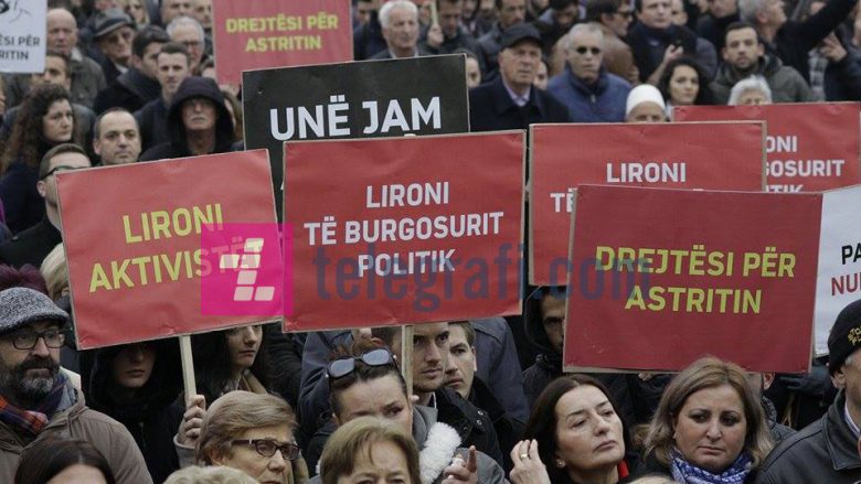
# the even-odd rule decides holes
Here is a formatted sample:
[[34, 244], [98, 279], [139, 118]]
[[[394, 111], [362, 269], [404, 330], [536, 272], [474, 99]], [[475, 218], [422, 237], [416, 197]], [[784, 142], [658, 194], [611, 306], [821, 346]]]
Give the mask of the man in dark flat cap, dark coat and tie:
[[502, 34], [500, 75], [469, 90], [472, 131], [527, 129], [535, 122], [567, 122], [565, 105], [532, 87], [541, 64], [541, 35], [530, 24], [517, 24]]

